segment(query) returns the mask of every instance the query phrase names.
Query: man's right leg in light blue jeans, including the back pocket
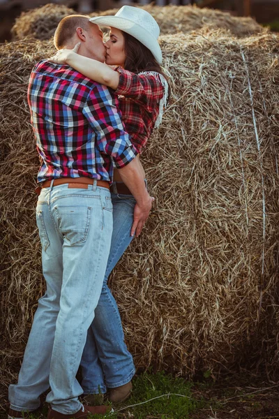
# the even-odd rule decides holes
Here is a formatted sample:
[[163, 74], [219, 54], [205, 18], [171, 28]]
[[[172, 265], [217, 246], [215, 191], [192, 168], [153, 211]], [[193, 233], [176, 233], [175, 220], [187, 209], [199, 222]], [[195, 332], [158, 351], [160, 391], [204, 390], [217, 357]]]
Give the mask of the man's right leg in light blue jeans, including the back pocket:
[[77, 397], [83, 392], [75, 376], [110, 251], [112, 202], [105, 188], [65, 186], [56, 186], [51, 196], [51, 213], [63, 235], [63, 284], [47, 402], [55, 411], [73, 414], [80, 410]]

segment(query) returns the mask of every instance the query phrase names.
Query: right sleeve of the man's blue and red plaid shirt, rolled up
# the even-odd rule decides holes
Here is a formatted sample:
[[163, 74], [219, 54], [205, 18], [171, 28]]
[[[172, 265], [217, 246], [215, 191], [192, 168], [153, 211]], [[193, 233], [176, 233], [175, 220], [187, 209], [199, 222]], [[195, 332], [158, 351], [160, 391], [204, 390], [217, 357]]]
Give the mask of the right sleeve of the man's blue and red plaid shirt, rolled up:
[[123, 168], [138, 154], [121, 121], [118, 100], [107, 87], [98, 84], [91, 89], [83, 114], [96, 133], [100, 152], [112, 157], [116, 168]]

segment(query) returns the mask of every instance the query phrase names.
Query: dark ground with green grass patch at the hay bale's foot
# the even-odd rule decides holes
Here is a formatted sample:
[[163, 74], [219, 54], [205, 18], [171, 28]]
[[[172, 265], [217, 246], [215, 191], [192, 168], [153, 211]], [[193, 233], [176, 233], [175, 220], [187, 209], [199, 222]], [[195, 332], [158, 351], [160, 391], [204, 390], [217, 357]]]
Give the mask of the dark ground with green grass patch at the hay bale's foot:
[[[133, 405], [133, 406], [131, 406]], [[279, 419], [279, 383], [245, 374], [193, 382], [159, 372], [133, 380], [133, 396], [111, 419]], [[2, 411], [3, 412], [3, 411]], [[47, 406], [31, 419], [45, 419]], [[6, 414], [0, 415], [6, 418]], [[103, 416], [92, 416], [92, 419]]]

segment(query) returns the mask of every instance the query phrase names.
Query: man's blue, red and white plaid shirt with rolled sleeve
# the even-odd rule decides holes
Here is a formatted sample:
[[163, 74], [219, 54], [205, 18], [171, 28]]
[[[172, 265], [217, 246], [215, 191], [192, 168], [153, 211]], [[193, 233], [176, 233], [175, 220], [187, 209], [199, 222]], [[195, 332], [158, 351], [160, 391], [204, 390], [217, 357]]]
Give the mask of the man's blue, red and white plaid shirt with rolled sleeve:
[[69, 66], [36, 64], [28, 101], [43, 160], [38, 182], [56, 177], [111, 181], [113, 167], [122, 168], [137, 154], [115, 94]]

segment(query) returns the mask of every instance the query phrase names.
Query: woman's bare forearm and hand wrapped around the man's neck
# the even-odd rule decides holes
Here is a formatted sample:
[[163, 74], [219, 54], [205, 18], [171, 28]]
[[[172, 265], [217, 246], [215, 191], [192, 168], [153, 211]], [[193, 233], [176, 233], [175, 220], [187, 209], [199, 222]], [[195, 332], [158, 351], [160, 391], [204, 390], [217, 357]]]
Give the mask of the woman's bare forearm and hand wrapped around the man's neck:
[[119, 85], [119, 73], [107, 64], [78, 54], [79, 47], [80, 43], [75, 45], [73, 50], [58, 50], [49, 61], [56, 64], [68, 64], [91, 80], [116, 90]]

